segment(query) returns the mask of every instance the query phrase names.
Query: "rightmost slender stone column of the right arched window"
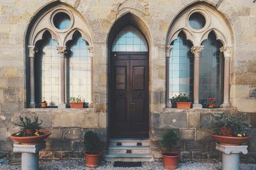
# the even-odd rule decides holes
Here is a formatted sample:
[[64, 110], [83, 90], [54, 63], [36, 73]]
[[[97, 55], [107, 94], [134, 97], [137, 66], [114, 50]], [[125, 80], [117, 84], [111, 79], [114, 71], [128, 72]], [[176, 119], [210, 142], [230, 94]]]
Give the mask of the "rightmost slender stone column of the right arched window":
[[232, 46], [223, 46], [220, 48], [220, 52], [224, 53], [224, 88], [223, 88], [223, 104], [221, 108], [230, 108], [229, 103], [229, 87], [230, 87], [230, 57], [232, 52]]

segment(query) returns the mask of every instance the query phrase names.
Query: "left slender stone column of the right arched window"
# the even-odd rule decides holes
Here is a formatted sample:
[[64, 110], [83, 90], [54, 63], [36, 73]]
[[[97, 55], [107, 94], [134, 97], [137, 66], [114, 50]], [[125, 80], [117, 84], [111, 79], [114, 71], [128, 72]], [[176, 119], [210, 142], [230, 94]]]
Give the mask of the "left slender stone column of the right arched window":
[[170, 71], [170, 53], [172, 51], [173, 45], [166, 46], [166, 77], [165, 77], [165, 107], [172, 108], [172, 103], [170, 103], [169, 97], [169, 71]]

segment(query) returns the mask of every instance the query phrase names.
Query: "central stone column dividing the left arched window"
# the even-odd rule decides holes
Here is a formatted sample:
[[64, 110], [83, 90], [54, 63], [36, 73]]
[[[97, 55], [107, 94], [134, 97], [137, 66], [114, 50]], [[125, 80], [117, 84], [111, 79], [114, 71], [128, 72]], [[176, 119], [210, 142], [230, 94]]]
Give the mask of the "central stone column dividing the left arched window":
[[58, 108], [66, 108], [65, 103], [65, 54], [67, 53], [66, 46], [57, 46], [58, 53], [60, 53], [60, 104]]

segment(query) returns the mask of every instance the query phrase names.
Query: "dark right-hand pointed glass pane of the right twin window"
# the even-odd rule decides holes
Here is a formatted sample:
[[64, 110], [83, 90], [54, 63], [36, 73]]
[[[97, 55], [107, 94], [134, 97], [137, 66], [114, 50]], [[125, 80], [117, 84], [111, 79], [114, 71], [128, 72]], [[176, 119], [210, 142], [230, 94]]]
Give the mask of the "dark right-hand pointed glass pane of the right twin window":
[[216, 40], [213, 31], [208, 39], [202, 42], [204, 50], [200, 56], [200, 103], [210, 97], [216, 99], [215, 106], [223, 102], [223, 53], [220, 52], [222, 43]]

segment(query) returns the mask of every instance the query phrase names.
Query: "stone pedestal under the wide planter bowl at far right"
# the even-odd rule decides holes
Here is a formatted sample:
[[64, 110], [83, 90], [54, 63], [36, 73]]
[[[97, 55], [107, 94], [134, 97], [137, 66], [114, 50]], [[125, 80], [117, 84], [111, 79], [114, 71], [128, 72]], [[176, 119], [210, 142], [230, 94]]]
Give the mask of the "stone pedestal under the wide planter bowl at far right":
[[247, 145], [230, 146], [216, 143], [216, 150], [222, 152], [222, 169], [239, 170], [240, 153], [248, 153]]

